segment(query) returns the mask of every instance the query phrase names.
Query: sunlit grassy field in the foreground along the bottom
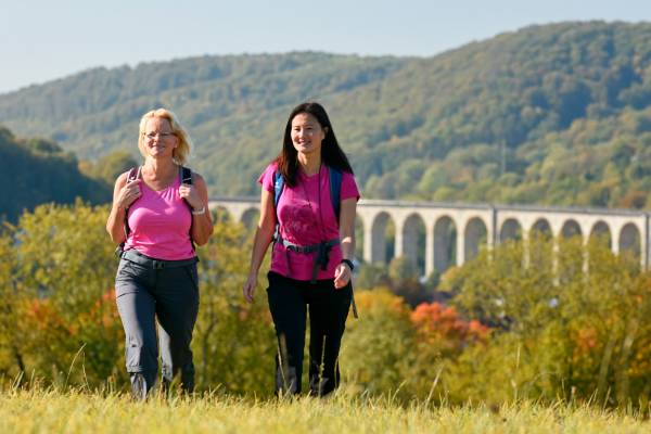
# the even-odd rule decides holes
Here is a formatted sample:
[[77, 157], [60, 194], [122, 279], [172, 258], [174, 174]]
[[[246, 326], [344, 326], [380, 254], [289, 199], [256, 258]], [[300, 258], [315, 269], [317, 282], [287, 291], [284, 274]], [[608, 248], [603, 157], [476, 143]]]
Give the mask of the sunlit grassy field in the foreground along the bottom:
[[240, 399], [3, 391], [0, 433], [651, 433], [651, 422], [590, 407], [403, 408], [387, 398]]

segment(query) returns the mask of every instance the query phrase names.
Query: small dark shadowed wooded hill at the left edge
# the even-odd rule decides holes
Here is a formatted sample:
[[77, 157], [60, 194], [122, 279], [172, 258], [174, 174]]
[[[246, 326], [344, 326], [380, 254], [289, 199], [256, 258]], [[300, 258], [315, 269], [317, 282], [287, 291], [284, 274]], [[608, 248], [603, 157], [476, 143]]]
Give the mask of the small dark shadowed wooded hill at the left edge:
[[75, 155], [48, 140], [17, 139], [0, 128], [0, 221], [15, 221], [24, 209], [47, 203], [111, 200], [111, 186], [78, 169]]

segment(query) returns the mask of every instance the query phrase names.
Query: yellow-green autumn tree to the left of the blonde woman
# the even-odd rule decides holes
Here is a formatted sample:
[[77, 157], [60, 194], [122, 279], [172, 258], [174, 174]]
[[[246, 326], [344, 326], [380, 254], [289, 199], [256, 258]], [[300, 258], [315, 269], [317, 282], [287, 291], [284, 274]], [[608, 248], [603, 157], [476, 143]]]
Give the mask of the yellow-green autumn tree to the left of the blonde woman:
[[104, 229], [107, 215], [106, 206], [77, 201], [41, 205], [21, 217], [15, 272], [23, 320], [17, 327], [28, 371], [91, 384], [124, 371], [112, 291], [117, 258]]

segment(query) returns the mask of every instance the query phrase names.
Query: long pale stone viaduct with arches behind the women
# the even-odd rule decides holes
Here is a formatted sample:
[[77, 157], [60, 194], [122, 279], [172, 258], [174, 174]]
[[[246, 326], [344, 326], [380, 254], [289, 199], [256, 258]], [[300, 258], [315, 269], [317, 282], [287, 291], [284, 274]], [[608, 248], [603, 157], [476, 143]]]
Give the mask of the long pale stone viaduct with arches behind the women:
[[[253, 226], [259, 199], [213, 197], [209, 207], [225, 208], [234, 220]], [[614, 253], [631, 251], [641, 267], [648, 268], [650, 216], [628, 209], [361, 200], [357, 233], [362, 239], [365, 261], [387, 263], [404, 256], [424, 276], [463, 264], [482, 245], [492, 247], [510, 239], [526, 241], [532, 231], [580, 235], [585, 241], [602, 235]]]

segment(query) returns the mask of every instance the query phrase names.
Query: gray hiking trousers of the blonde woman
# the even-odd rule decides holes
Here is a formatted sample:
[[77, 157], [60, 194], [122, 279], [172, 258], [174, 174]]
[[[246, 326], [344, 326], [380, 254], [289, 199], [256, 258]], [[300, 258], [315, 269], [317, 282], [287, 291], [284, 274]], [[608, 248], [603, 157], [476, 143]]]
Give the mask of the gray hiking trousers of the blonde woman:
[[115, 296], [126, 335], [127, 372], [137, 397], [145, 397], [156, 382], [158, 344], [163, 384], [180, 373], [182, 390], [194, 388], [190, 342], [199, 311], [197, 261], [156, 260], [132, 250], [122, 255]]

